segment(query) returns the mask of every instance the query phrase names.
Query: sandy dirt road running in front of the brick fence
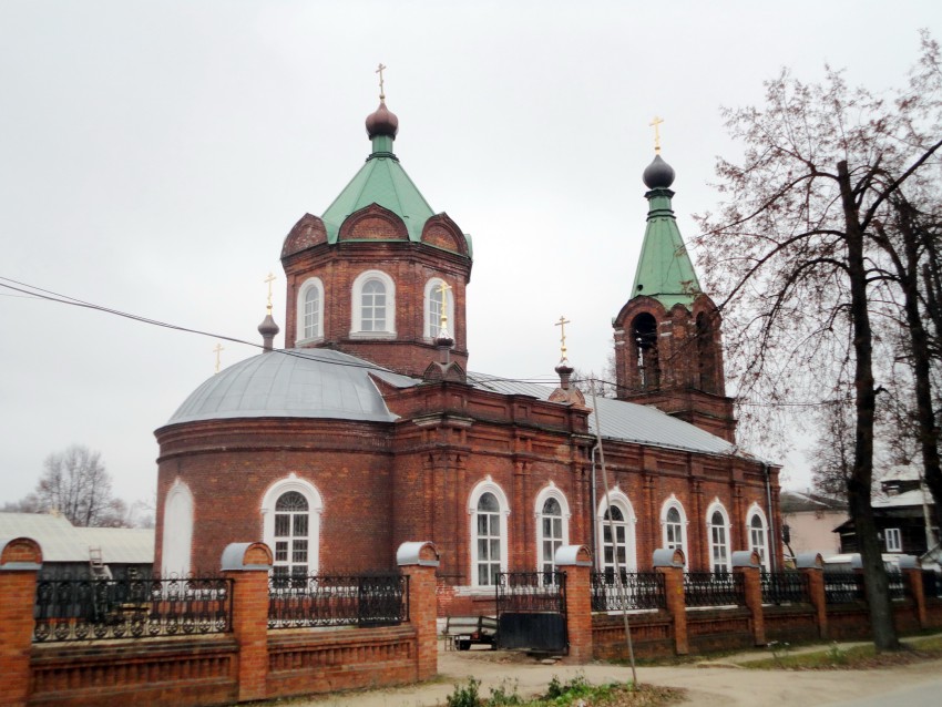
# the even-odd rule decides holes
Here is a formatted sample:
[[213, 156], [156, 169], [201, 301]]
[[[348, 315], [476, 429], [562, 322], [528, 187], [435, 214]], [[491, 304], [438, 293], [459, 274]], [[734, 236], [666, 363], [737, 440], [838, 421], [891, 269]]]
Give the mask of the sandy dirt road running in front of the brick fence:
[[[679, 667], [641, 667], [638, 680], [687, 690], [690, 705], [704, 707], [778, 707], [779, 705], [838, 704], [890, 694], [901, 687], [935, 683], [942, 694], [942, 660], [879, 670], [747, 670], [735, 667], [736, 656], [723, 664]], [[311, 707], [432, 707], [444, 705], [453, 686], [469, 676], [481, 680], [481, 695], [504, 684], [516, 685], [520, 695], [545, 691], [554, 675], [566, 680], [582, 674], [590, 683], [631, 679], [631, 668], [594, 664], [543, 665], [530, 658], [490, 650], [440, 653], [439, 679], [400, 688], [345, 693], [311, 698], [295, 705]]]

